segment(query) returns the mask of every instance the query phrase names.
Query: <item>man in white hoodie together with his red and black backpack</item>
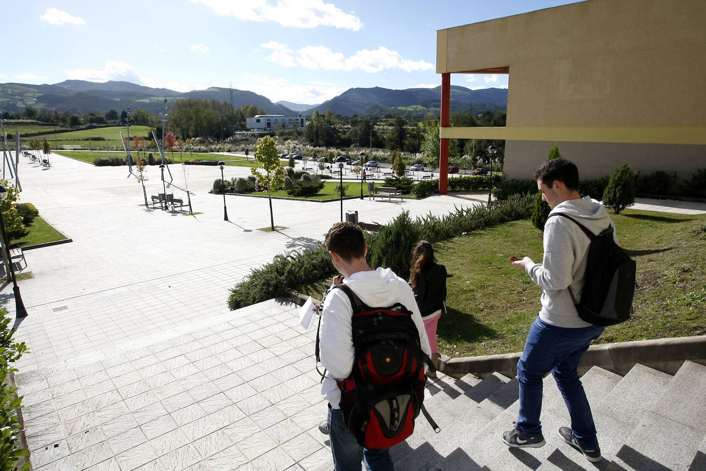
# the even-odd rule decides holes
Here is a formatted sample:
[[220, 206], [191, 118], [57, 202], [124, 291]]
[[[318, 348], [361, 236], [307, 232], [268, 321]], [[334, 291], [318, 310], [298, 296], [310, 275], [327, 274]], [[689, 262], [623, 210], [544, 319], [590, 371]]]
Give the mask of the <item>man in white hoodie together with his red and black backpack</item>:
[[[394, 440], [393, 434], [405, 428], [409, 429], [410, 424], [414, 427], [413, 416], [419, 412], [421, 399], [414, 391], [410, 394], [404, 388], [399, 390], [397, 395], [380, 398], [375, 395], [376, 387], [365, 388], [361, 382], [369, 380], [368, 374], [380, 374], [380, 377], [384, 378], [386, 374], [395, 376], [399, 370], [401, 374], [407, 375], [405, 378], [412, 378], [407, 379], [406, 383], [412, 385], [412, 388], [417, 388], [417, 393], [421, 393], [423, 398], [426, 381], [424, 362], [429, 359], [431, 352], [424, 322], [414, 300], [414, 293], [407, 282], [389, 268], [373, 270], [368, 266], [365, 258], [368, 247], [358, 225], [337, 222], [328, 231], [324, 244], [333, 265], [341, 274], [333, 279], [333, 286], [322, 302], [318, 349], [321, 364], [326, 369], [321, 394], [329, 403], [328, 431], [334, 469], [359, 471], [361, 460], [364, 460], [369, 471], [393, 470], [392, 458], [385, 443], [390, 443], [387, 441], [390, 438]], [[366, 314], [375, 308], [386, 309], [383, 309], [379, 316], [371, 316], [374, 318], [368, 320], [354, 319], [356, 314]], [[408, 331], [412, 333], [406, 335], [405, 344], [396, 340], [400, 337], [397, 333], [399, 329], [394, 332], [385, 330], [388, 320], [395, 322], [397, 317], [401, 322], [400, 328], [410, 329]], [[368, 321], [369, 326], [361, 324]], [[360, 354], [357, 351], [359, 342], [371, 337], [378, 337], [378, 340], [390, 339], [382, 340], [380, 345], [383, 345], [383, 350], [388, 348], [389, 354], [383, 354], [379, 361], [376, 352], [380, 350], [380, 345], [375, 345], [374, 351], [370, 350], [373, 353], [367, 361], [357, 358], [357, 354]], [[409, 362], [397, 364], [400, 359], [396, 356], [397, 352], [404, 352], [400, 358]], [[390, 365], [387, 373], [384, 371], [385, 363]], [[359, 388], [357, 394], [352, 391], [352, 388], [356, 387]], [[355, 405], [353, 412], [350, 409], [342, 410], [342, 395], [344, 407], [346, 398], [353, 397], [374, 398], [367, 401], [374, 403], [373, 409], [375, 405], [382, 404], [383, 407], [380, 407], [379, 413], [373, 410], [368, 417], [362, 417], [360, 414], [356, 417], [355, 407], [362, 405]], [[349, 416], [344, 417], [344, 414]], [[355, 421], [357, 425], [353, 427]], [[354, 430], [355, 434], [351, 430]], [[368, 433], [368, 436], [359, 433], [363, 431]], [[372, 432], [377, 435], [371, 436]], [[375, 446], [370, 446], [371, 443]]]

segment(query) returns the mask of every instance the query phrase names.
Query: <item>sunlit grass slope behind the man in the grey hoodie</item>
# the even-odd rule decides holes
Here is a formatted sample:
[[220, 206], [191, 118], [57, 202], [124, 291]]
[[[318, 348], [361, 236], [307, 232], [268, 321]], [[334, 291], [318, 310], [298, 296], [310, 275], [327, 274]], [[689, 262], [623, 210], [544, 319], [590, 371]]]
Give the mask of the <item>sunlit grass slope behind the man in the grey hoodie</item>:
[[[635, 314], [607, 327], [594, 343], [705, 335], [706, 215], [624, 210], [611, 217], [621, 246], [638, 263]], [[508, 222], [439, 242], [435, 249], [450, 275], [439, 350], [451, 357], [522, 351], [542, 290], [509, 257], [541, 261], [541, 232], [530, 220]], [[320, 298], [330, 278], [301, 291]]]

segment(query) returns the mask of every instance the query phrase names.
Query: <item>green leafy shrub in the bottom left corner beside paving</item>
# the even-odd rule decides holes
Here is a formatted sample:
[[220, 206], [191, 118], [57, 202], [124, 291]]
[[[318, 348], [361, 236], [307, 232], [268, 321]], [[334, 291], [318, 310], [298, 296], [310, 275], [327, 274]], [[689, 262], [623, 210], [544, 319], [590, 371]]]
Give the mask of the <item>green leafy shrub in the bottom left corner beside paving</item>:
[[[18, 434], [23, 429], [20, 424], [17, 410], [21, 407], [22, 397], [17, 396], [17, 389], [9, 386], [10, 376], [18, 370], [13, 368], [23, 354], [27, 353], [25, 342], [14, 343], [13, 334], [17, 329], [10, 328], [10, 318], [5, 316], [5, 310], [0, 311], [0, 470], [10, 471], [20, 465], [18, 460], [22, 456], [29, 456], [29, 452], [21, 449], [18, 444]], [[29, 460], [21, 469], [30, 467]]]

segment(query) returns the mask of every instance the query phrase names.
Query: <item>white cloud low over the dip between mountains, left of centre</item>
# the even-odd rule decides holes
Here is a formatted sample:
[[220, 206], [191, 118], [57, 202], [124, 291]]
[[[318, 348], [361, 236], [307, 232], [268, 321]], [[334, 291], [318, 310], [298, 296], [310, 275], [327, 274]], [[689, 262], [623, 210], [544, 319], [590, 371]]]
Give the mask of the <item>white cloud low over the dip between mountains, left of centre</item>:
[[309, 82], [304, 85], [289, 83], [285, 78], [270, 78], [246, 74], [249, 83], [234, 83], [233, 88], [251, 90], [268, 97], [273, 102], [287, 100], [294, 103], [321, 103], [348, 90], [345, 87], [329, 86], [325, 83]]

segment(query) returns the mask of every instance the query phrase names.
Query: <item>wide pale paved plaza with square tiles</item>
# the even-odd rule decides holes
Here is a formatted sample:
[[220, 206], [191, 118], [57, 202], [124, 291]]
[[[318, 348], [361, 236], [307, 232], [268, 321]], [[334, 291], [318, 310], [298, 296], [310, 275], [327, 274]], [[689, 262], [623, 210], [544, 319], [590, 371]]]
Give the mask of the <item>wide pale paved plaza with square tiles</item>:
[[[20, 393], [35, 470], [330, 470], [316, 425], [325, 417], [313, 336], [297, 306], [270, 300], [229, 311], [229, 288], [275, 254], [323, 241], [339, 203], [273, 201], [278, 232], [262, 232], [266, 198], [208, 193], [217, 167], [184, 167], [189, 216], [140, 206], [125, 167], [52, 154], [20, 160], [22, 202], [73, 242], [26, 251], [29, 316], [16, 340]], [[186, 201], [181, 165], [171, 189]], [[225, 177], [249, 169], [226, 167]], [[148, 167], [147, 193], [162, 192]], [[168, 178], [168, 177], [167, 177]], [[351, 199], [361, 222], [402, 210], [443, 214], [486, 196]], [[635, 208], [706, 213], [706, 205], [640, 201]], [[11, 285], [0, 302], [14, 316]]]

